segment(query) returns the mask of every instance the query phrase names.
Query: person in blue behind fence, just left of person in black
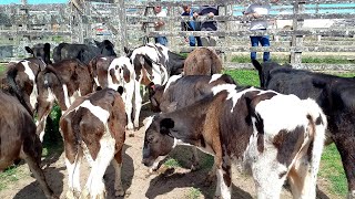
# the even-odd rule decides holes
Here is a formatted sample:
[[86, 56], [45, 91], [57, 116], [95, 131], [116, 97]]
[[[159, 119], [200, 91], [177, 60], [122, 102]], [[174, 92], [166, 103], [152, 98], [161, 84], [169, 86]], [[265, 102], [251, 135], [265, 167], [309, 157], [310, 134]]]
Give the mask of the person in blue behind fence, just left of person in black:
[[[181, 15], [189, 15], [189, 17], [193, 17], [193, 10], [191, 9], [190, 6], [184, 4], [182, 7], [182, 9], [184, 10]], [[183, 21], [181, 22], [181, 30], [182, 31], [200, 31], [200, 22], [196, 21]], [[186, 38], [185, 38], [186, 40]], [[197, 43], [197, 46], [202, 46], [201, 43], [201, 38], [200, 36], [193, 36], [190, 35], [189, 36], [189, 44], [190, 46], [195, 46]]]

